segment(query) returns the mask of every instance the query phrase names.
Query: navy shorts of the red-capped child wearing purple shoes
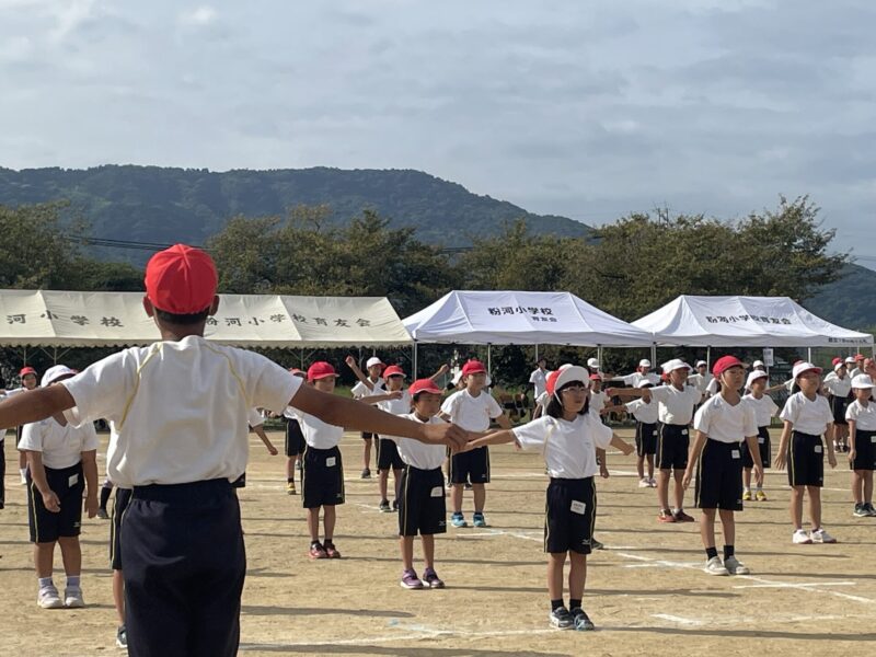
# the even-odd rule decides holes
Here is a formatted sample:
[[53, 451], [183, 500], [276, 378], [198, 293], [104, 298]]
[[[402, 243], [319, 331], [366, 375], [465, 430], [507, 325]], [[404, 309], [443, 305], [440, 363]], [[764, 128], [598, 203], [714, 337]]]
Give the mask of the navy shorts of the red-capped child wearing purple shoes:
[[406, 465], [402, 471], [399, 495], [399, 535], [415, 537], [445, 533], [445, 477], [440, 468], [420, 470]]

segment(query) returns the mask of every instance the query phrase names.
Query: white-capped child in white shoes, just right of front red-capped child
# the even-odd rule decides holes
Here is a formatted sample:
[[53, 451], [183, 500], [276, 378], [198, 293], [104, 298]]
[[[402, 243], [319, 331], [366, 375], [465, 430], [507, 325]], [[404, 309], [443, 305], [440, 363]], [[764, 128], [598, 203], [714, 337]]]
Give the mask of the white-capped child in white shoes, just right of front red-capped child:
[[[799, 392], [792, 394], [779, 417], [785, 423], [779, 452], [773, 464], [783, 470], [788, 465], [791, 485], [791, 518], [794, 523], [792, 542], [835, 543], [821, 525], [821, 487], [825, 485], [825, 443], [827, 439], [828, 462], [837, 466], [833, 453], [833, 413], [827, 399], [818, 394], [821, 388], [821, 368], [811, 362], [799, 361], [792, 370], [794, 387]], [[812, 529], [803, 529], [803, 498], [809, 494], [809, 519]]]

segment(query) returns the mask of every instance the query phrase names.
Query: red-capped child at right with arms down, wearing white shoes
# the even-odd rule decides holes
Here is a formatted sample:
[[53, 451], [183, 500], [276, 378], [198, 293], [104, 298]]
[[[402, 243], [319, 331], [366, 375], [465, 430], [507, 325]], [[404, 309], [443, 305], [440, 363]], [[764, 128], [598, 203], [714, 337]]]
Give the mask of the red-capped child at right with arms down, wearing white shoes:
[[[754, 408], [742, 401], [739, 389], [746, 378], [746, 366], [735, 356], [715, 361], [712, 373], [717, 393], [700, 406], [693, 418], [696, 437], [682, 479], [690, 486], [694, 470], [694, 503], [702, 509], [700, 535], [705, 548], [708, 575], [748, 575], [749, 569], [736, 557], [735, 511], [742, 510], [742, 449], [752, 457], [754, 476], [762, 473], [758, 448], [758, 424]], [[724, 562], [715, 545], [715, 515], [721, 516], [724, 535]]]

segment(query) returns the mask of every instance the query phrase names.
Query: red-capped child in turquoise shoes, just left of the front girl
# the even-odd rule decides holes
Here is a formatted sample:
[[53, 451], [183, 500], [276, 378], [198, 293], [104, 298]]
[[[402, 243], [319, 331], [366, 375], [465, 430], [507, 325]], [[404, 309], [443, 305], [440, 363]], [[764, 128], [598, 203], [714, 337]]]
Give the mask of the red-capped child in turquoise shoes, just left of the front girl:
[[[459, 425], [469, 431], [486, 431], [491, 420], [495, 419], [503, 429], [510, 429], [511, 422], [493, 399], [484, 391], [486, 385], [486, 368], [480, 360], [469, 360], [462, 367], [463, 390], [454, 392], [441, 404], [441, 417]], [[453, 486], [450, 496], [453, 503], [453, 515], [450, 523], [453, 527], [468, 527], [465, 516], [462, 515], [463, 486], [472, 485], [474, 497], [474, 515], [472, 522], [475, 527], [486, 527], [484, 519], [484, 504], [486, 503], [486, 487], [489, 483], [489, 451], [482, 447], [476, 450], [465, 451], [450, 457], [450, 483]]]

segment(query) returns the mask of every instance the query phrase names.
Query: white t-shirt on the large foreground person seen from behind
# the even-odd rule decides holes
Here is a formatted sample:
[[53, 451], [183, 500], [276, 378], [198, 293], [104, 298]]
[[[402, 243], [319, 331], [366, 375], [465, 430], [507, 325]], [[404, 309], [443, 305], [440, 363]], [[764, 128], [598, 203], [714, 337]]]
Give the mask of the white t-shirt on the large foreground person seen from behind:
[[301, 379], [258, 354], [191, 335], [125, 349], [61, 385], [77, 404], [68, 420], [111, 422], [106, 471], [131, 488], [233, 482], [246, 469], [250, 411], [283, 411]]

